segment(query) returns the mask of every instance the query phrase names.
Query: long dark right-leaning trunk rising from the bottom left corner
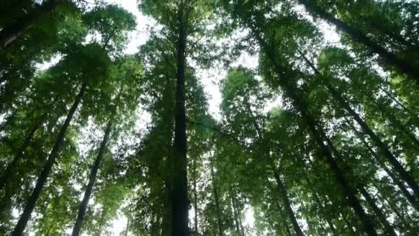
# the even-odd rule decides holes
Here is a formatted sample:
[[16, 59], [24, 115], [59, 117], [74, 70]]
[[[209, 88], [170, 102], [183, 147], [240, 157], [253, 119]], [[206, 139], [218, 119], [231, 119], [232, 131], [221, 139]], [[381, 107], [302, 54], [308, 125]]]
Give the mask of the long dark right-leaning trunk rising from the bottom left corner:
[[32, 214], [32, 210], [34, 209], [35, 204], [37, 203], [37, 200], [39, 199], [39, 195], [41, 195], [41, 190], [43, 186], [45, 185], [48, 179], [48, 176], [50, 175], [52, 166], [54, 165], [55, 159], [57, 158], [57, 155], [61, 148], [61, 144], [63, 144], [65, 132], [67, 132], [68, 126], [70, 126], [70, 121], [72, 120], [74, 112], [76, 112], [76, 109], [79, 106], [80, 101], [83, 98], [83, 95], [87, 87], [88, 87], [88, 81], [86, 80], [83, 82], [79, 95], [77, 95], [76, 100], [74, 101], [74, 104], [70, 108], [63, 126], [61, 126], [59, 135], [55, 141], [54, 147], [51, 150], [50, 156], [48, 157], [47, 161], [45, 162], [45, 165], [43, 166], [43, 170], [38, 177], [37, 184], [32, 194], [30, 195], [28, 201], [26, 201], [25, 208], [23, 209], [23, 213], [21, 217], [19, 218], [17, 225], [14, 227], [12, 236], [21, 236], [23, 234], [23, 230], [25, 230], [25, 226], [26, 224], [28, 224], [28, 220], [30, 218], [30, 215]]

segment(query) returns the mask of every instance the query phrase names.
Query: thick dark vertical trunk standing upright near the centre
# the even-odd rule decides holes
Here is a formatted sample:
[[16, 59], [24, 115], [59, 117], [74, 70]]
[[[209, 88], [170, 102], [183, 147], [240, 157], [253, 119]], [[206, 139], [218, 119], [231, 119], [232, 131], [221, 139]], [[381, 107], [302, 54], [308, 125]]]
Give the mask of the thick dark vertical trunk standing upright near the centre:
[[187, 210], [187, 139], [185, 112], [186, 26], [184, 9], [178, 10], [178, 39], [176, 61], [176, 111], [174, 117], [174, 176], [172, 193], [172, 236], [189, 233]]

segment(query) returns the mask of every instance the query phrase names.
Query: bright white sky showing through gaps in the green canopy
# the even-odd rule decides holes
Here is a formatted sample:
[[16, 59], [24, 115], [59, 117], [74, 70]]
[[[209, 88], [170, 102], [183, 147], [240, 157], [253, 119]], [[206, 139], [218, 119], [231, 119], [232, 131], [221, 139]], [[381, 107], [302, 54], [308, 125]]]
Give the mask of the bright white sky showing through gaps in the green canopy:
[[[138, 52], [139, 47], [147, 41], [147, 39], [150, 37], [150, 29], [153, 27], [159, 27], [157, 26], [156, 21], [154, 21], [151, 17], [144, 16], [140, 10], [139, 10], [139, 2], [138, 0], [106, 0], [108, 3], [115, 3], [119, 6], [125, 8], [134, 16], [136, 17], [136, 30], [133, 32], [130, 32], [130, 41], [125, 46], [124, 52], [126, 54], [135, 54]], [[303, 10], [303, 8], [302, 8]], [[307, 15], [307, 18], [311, 18]], [[339, 35], [336, 32], [335, 28], [333, 26], [327, 25], [327, 23], [323, 23], [320, 26], [320, 30], [323, 31], [323, 34], [325, 36], [325, 40], [327, 43], [337, 43], [339, 41]], [[239, 35], [239, 37], [245, 36], [246, 32], [242, 32], [243, 35]], [[54, 57], [51, 61], [48, 63], [43, 63], [38, 66], [39, 70], [45, 70], [49, 68], [50, 66], [53, 66], [55, 63], [57, 63], [61, 57], [57, 56]], [[193, 66], [193, 65], [192, 65]], [[243, 53], [241, 57], [239, 57], [231, 66], [244, 66], [245, 68], [251, 68], [255, 69], [258, 67], [258, 57], [248, 55], [247, 53]], [[219, 89], [219, 84], [221, 79], [227, 75], [227, 70], [223, 68], [223, 66], [215, 66], [210, 69], [201, 69], [201, 68], [195, 68], [196, 69], [196, 76], [198, 79], [201, 80], [201, 83], [203, 83], [205, 93], [207, 94], [208, 104], [209, 104], [209, 111], [210, 114], [215, 118], [220, 118], [220, 105], [221, 105], [221, 92]], [[274, 106], [280, 106], [281, 99], [280, 97], [277, 97], [276, 99], [273, 99], [265, 108], [265, 112], [270, 110]], [[145, 127], [147, 121], [150, 121], [147, 119], [147, 115], [141, 114], [141, 119], [139, 120], [139, 126]], [[82, 144], [81, 144], [82, 145]], [[81, 147], [83, 149], [83, 147]], [[90, 201], [90, 204], [92, 202]], [[190, 216], [193, 215], [193, 209], [190, 210]], [[193, 217], [190, 217], [190, 221], [193, 222]], [[303, 225], [305, 225], [305, 222], [301, 222]], [[254, 217], [253, 217], [253, 211], [249, 206], [246, 207], [245, 210], [245, 221], [243, 224], [249, 228], [253, 228], [254, 226]], [[112, 235], [121, 235], [125, 231], [125, 228], [127, 226], [127, 218], [123, 216], [122, 214], [119, 215], [117, 219], [114, 219], [112, 222]], [[71, 233], [71, 229], [69, 229], [68, 233]], [[83, 233], [83, 235], [88, 235], [86, 233]]]

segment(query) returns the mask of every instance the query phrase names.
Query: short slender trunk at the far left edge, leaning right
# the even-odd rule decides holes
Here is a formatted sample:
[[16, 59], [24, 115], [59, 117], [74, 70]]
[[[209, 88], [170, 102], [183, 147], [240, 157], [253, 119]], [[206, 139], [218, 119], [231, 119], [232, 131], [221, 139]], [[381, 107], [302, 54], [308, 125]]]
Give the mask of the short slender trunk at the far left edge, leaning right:
[[6, 186], [6, 183], [9, 179], [12, 178], [12, 175], [14, 175], [14, 170], [17, 168], [19, 161], [21, 160], [21, 157], [23, 155], [23, 152], [25, 151], [26, 147], [30, 144], [30, 140], [34, 136], [35, 132], [39, 129], [42, 122], [38, 122], [34, 125], [32, 130], [30, 130], [28, 136], [26, 136], [25, 140], [23, 141], [23, 144], [20, 146], [20, 148], [17, 150], [16, 154], [14, 155], [13, 160], [8, 164], [8, 167], [4, 172], [2, 173], [0, 177], [0, 191]]

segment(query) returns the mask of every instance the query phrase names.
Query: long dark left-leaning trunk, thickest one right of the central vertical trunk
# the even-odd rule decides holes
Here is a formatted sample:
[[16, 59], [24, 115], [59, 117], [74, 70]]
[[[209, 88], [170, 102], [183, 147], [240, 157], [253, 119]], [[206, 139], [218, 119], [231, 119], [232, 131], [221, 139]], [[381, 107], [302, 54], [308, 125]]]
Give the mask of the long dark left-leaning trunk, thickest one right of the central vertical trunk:
[[[285, 72], [291, 72], [291, 74], [294, 74], [294, 71], [291, 71], [289, 68], [285, 68], [284, 66], [280, 66], [279, 63], [276, 61], [276, 56], [274, 55], [275, 50], [269, 48], [267, 46], [267, 43], [258, 35], [257, 32], [255, 32], [256, 38], [258, 39], [261, 48], [264, 50], [265, 54], [267, 55], [269, 61], [274, 66], [274, 69], [278, 73], [278, 76], [280, 77], [286, 77]], [[304, 101], [303, 97], [298, 95], [296, 89], [294, 86], [289, 84], [287, 80], [280, 79], [280, 86], [285, 90], [285, 93], [287, 97], [292, 99], [294, 102], [295, 108], [300, 112], [301, 117], [303, 118], [303, 121], [308, 126], [311, 135], [313, 135], [314, 140], [318, 144], [318, 148], [320, 150], [320, 153], [325, 157], [325, 160], [329, 164], [329, 167], [331, 168], [332, 173], [334, 173], [334, 176], [336, 177], [336, 180], [342, 187], [343, 193], [345, 198], [347, 198], [347, 202], [349, 206], [354, 208], [356, 215], [360, 218], [363, 228], [365, 232], [368, 235], [377, 235], [376, 230], [374, 229], [374, 225], [372, 224], [371, 220], [365, 213], [364, 209], [362, 208], [359, 199], [356, 197], [355, 190], [349, 185], [347, 178], [340, 170], [338, 164], [336, 163], [336, 160], [334, 159], [330, 148], [328, 148], [325, 143], [323, 142], [326, 138], [325, 132], [323, 129], [318, 126], [318, 122], [311, 117], [311, 115], [308, 112], [307, 109], [307, 103]], [[330, 143], [331, 144], [331, 143]], [[338, 159], [340, 158], [339, 153], [335, 153], [336, 156], [338, 156]]]

